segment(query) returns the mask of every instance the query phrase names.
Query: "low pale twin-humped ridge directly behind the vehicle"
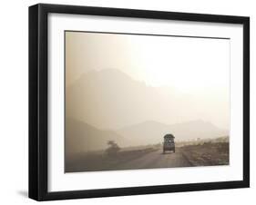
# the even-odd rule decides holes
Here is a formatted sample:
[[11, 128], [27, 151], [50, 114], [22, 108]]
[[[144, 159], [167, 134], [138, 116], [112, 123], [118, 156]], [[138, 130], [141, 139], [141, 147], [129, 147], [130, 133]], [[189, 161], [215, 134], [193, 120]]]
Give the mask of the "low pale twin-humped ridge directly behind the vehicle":
[[148, 121], [122, 128], [117, 132], [138, 144], [162, 142], [166, 133], [174, 134], [177, 141], [216, 138], [229, 134], [228, 131], [221, 130], [210, 122], [200, 120], [170, 125]]

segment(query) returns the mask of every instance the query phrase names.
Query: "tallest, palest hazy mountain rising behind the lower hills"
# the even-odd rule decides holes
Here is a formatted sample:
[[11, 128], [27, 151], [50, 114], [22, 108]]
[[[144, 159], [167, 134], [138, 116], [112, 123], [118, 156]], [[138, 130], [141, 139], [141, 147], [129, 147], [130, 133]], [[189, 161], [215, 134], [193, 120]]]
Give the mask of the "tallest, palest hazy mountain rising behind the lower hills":
[[[195, 100], [196, 99], [196, 100]], [[152, 87], [115, 69], [84, 73], [67, 87], [67, 117], [100, 129], [117, 130], [130, 124], [153, 120], [172, 124], [206, 119], [218, 109], [170, 88]]]

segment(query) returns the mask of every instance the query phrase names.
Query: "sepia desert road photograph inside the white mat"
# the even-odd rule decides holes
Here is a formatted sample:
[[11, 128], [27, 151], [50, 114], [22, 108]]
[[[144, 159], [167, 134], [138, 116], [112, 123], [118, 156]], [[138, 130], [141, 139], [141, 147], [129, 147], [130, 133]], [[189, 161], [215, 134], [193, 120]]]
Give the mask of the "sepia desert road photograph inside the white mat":
[[230, 38], [64, 35], [66, 173], [230, 164]]

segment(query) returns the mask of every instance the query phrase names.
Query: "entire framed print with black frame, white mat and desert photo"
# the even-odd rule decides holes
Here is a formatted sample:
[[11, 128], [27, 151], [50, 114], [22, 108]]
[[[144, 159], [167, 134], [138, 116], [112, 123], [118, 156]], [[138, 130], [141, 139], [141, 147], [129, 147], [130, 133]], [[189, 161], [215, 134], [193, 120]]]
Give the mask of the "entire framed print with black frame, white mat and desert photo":
[[29, 197], [250, 186], [250, 19], [29, 7]]

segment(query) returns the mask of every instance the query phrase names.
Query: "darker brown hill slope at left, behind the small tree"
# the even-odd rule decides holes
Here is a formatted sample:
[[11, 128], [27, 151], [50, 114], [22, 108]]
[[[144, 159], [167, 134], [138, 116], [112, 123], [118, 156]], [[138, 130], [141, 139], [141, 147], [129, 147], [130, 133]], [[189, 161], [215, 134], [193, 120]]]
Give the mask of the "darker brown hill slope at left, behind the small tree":
[[74, 119], [66, 120], [66, 153], [72, 154], [85, 151], [104, 150], [108, 141], [118, 142], [124, 146], [128, 143], [118, 133], [107, 130], [99, 130], [85, 122]]

